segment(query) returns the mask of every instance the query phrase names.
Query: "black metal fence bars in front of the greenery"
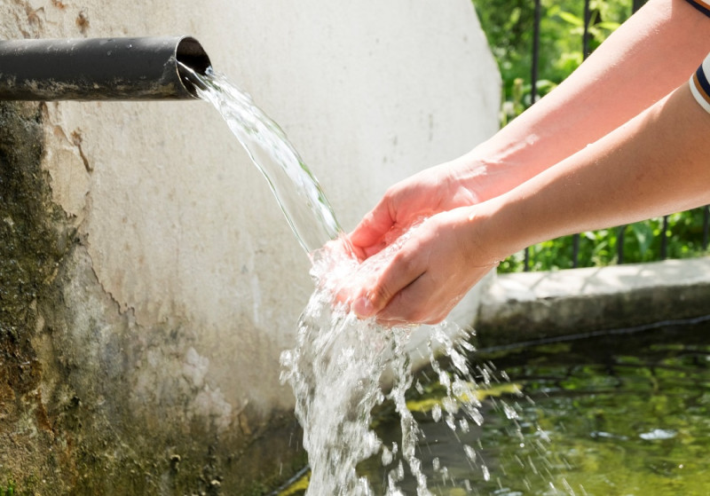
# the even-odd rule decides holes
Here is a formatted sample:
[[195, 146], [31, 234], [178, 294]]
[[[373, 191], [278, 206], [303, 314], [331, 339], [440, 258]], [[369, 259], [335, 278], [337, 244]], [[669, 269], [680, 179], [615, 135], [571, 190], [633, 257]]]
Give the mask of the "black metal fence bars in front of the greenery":
[[[640, 9], [647, 0], [633, 0], [632, 13]], [[582, 34], [582, 53], [583, 58], [586, 59], [589, 55], [589, 28], [591, 23], [591, 0], [585, 0], [584, 2], [584, 29]], [[538, 83], [538, 67], [540, 60], [540, 21], [542, 15], [542, 4], [541, 0], [534, 0], [534, 28], [533, 28], [533, 63], [532, 63], [532, 73], [531, 73], [531, 105], [537, 99], [537, 83]], [[702, 251], [706, 251], [708, 248], [708, 237], [710, 236], [710, 206], [702, 208], [703, 210], [703, 224], [702, 224]], [[628, 225], [621, 225], [617, 228], [617, 253], [616, 253], [616, 263], [624, 263], [624, 237], [627, 232]], [[658, 260], [665, 260], [668, 256], [667, 246], [668, 246], [668, 216], [663, 217], [662, 227], [660, 229], [660, 247], [659, 254], [656, 257]], [[572, 267], [577, 268], [580, 261], [580, 234], [574, 234], [572, 236]], [[524, 260], [524, 270], [525, 272], [530, 271], [531, 259], [530, 259], [530, 249], [525, 248], [525, 260]]]

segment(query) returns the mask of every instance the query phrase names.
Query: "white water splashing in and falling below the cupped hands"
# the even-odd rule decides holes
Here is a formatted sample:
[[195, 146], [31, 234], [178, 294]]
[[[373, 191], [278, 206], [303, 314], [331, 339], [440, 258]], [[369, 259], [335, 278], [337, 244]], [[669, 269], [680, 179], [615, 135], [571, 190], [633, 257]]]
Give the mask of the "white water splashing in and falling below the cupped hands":
[[[312, 277], [316, 290], [298, 323], [296, 347], [281, 355], [281, 381], [288, 382], [296, 395], [296, 417], [304, 429], [304, 447], [309, 453], [312, 476], [309, 496], [370, 495], [373, 481], [359, 475], [361, 462], [379, 454], [387, 471], [384, 493], [404, 494], [400, 483], [414, 480], [418, 496], [430, 496], [430, 481], [424, 474], [417, 452], [421, 429], [407, 405], [414, 374], [406, 351], [414, 327], [384, 328], [374, 319], [359, 320], [335, 295], [343, 280], [367, 278], [379, 264], [392, 256], [400, 242], [364, 264], [337, 245], [316, 252]], [[439, 382], [446, 384], [446, 399], [436, 405], [432, 416], [446, 421], [452, 435], [480, 425], [483, 415], [477, 399], [477, 383], [469, 371], [466, 353], [472, 350], [469, 335], [452, 325], [430, 327], [429, 353]], [[439, 365], [443, 350], [451, 370]], [[373, 410], [390, 402], [398, 415], [401, 437], [385, 445], [372, 429]], [[454, 413], [461, 420], [455, 422]], [[488, 468], [474, 448], [461, 445], [468, 456], [471, 473], [488, 477]], [[446, 474], [446, 467], [436, 468]], [[467, 481], [447, 484], [466, 487]]]

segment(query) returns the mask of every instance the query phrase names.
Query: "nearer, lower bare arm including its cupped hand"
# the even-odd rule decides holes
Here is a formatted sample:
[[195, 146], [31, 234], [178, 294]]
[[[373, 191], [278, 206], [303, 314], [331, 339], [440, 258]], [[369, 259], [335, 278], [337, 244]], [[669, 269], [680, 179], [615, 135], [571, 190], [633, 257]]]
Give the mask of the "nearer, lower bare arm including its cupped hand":
[[508, 193], [430, 217], [360, 288], [352, 309], [390, 324], [438, 322], [491, 266], [525, 246], [708, 202], [710, 114], [684, 83]]

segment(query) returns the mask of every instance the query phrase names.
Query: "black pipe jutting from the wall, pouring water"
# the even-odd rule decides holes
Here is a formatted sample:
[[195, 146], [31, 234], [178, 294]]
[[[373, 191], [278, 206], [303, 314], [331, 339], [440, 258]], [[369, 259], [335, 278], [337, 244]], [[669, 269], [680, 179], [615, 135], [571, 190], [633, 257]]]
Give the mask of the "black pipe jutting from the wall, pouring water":
[[178, 62], [210, 67], [190, 36], [0, 41], [0, 100], [198, 98]]

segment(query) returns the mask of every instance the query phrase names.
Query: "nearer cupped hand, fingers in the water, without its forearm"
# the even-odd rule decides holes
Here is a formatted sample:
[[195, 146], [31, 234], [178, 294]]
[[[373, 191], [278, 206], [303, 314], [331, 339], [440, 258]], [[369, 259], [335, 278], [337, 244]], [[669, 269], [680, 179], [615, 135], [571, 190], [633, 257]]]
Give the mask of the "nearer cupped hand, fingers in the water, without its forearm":
[[497, 265], [477, 237], [479, 222], [470, 208], [442, 212], [368, 258], [353, 279], [351, 310], [388, 326], [445, 319]]

